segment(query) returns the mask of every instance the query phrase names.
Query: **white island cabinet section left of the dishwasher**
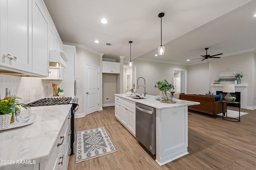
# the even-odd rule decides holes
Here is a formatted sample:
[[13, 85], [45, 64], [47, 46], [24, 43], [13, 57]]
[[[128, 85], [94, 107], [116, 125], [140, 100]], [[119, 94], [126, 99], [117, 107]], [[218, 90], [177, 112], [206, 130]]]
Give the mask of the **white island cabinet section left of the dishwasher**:
[[115, 96], [115, 116], [116, 119], [135, 137], [135, 102]]

